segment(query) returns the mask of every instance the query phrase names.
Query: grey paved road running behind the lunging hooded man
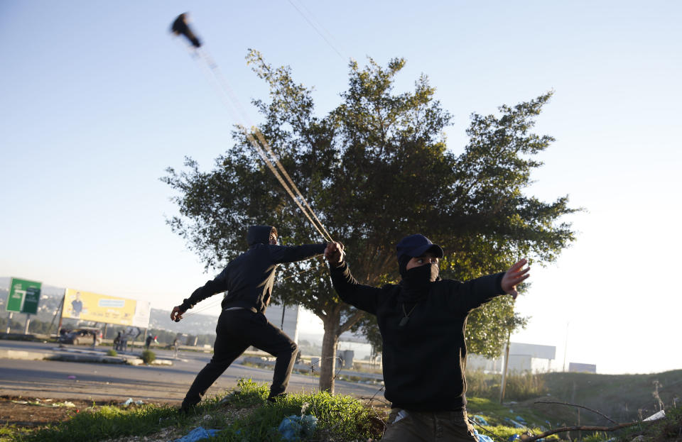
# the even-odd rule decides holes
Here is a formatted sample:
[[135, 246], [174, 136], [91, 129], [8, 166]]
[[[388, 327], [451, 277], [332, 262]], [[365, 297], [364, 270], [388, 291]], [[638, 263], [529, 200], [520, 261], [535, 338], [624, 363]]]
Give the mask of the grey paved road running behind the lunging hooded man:
[[[0, 341], [0, 348], [43, 351], [54, 344]], [[82, 348], [86, 348], [82, 346]], [[154, 350], [158, 358], [172, 358], [171, 351]], [[145, 366], [72, 363], [52, 360], [0, 359], [0, 394], [54, 399], [114, 399], [129, 397], [146, 402], [178, 404], [195, 375], [210, 360], [208, 353], [180, 352], [172, 366]], [[69, 379], [75, 376], [75, 379]], [[271, 382], [272, 371], [232, 364], [207, 394], [218, 394], [237, 386], [240, 378]], [[318, 377], [291, 375], [288, 392], [311, 392], [318, 387]], [[372, 397], [379, 386], [336, 382], [336, 392], [357, 397]], [[377, 398], [384, 399], [381, 392]]]

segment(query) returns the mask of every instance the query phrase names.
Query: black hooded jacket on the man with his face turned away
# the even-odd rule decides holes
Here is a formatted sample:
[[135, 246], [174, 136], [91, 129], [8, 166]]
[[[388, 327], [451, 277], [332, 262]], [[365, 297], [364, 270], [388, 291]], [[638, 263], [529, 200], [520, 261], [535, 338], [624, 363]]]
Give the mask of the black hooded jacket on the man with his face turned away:
[[326, 244], [270, 245], [271, 231], [271, 226], [249, 227], [249, 250], [230, 261], [214, 280], [196, 289], [180, 309], [187, 311], [197, 302], [227, 291], [221, 304], [223, 309], [242, 307], [254, 313], [265, 312], [270, 304], [277, 265], [313, 258], [324, 253], [326, 247]]

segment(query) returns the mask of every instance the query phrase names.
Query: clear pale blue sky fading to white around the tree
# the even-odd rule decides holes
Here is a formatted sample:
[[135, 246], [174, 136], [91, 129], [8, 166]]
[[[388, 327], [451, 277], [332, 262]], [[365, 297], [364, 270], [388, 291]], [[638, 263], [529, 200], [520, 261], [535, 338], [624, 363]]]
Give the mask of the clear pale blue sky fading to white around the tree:
[[185, 11], [252, 122], [249, 101], [267, 89], [247, 48], [315, 87], [320, 115], [345, 91], [350, 58], [405, 57], [396, 90], [428, 75], [455, 116], [455, 153], [472, 112], [553, 89], [536, 131], [556, 143], [528, 192], [568, 194], [585, 211], [563, 220], [579, 232], [573, 246], [531, 271], [516, 305], [532, 319], [512, 340], [602, 373], [682, 368], [674, 1], [4, 0], [0, 276], [170, 309], [215, 275], [166, 226], [177, 210], [159, 177], [185, 155], [212, 167], [243, 121], [169, 34]]

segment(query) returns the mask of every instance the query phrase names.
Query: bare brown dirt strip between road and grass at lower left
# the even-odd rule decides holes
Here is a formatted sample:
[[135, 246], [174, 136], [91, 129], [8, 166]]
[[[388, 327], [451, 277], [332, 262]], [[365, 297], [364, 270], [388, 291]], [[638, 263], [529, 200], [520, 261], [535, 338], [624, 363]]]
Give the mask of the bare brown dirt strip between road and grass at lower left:
[[40, 399], [36, 397], [0, 396], [0, 425], [36, 427], [64, 421], [90, 407], [119, 404], [119, 401], [83, 399]]

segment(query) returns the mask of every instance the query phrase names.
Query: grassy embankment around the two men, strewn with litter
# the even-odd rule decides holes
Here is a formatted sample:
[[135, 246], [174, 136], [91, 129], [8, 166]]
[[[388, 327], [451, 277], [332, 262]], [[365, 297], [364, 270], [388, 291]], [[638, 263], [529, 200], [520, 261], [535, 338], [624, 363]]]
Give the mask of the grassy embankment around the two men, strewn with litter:
[[[494, 441], [507, 441], [510, 436], [524, 430], [511, 426], [511, 420], [524, 421], [534, 433], [563, 425], [603, 425], [598, 414], [558, 404], [542, 402], [570, 402], [609, 414], [617, 421], [637, 419], [638, 411], [648, 416], [656, 411], [651, 394], [656, 391], [654, 381], [659, 382], [658, 394], [668, 413], [666, 420], [647, 426], [636, 426], [617, 433], [573, 432], [558, 436], [573, 440], [606, 441], [618, 436], [619, 440], [631, 441], [644, 434], [651, 441], [682, 441], [682, 408], [677, 407], [682, 396], [682, 370], [656, 375], [590, 375], [586, 373], [548, 373], [545, 375], [512, 375], [507, 385], [507, 398], [517, 402], [497, 403], [497, 385], [494, 376], [470, 373], [470, 416], [480, 416], [486, 425], [477, 426], [482, 434], [492, 436]], [[228, 392], [202, 402], [196, 412], [188, 416], [178, 414], [171, 407], [144, 405], [122, 409], [120, 407], [93, 407], [70, 419], [42, 429], [18, 429], [0, 427], [0, 441], [102, 441], [121, 436], [151, 436], [158, 440], [173, 440], [188, 433], [195, 426], [221, 429], [217, 441], [278, 441], [276, 427], [284, 416], [313, 414], [318, 418], [318, 428], [308, 441], [367, 441], [377, 440], [383, 429], [386, 409], [372, 407], [358, 399], [342, 395], [290, 394], [277, 404], [266, 403], [266, 385], [242, 381], [234, 392]], [[549, 394], [549, 396], [548, 396]], [[489, 396], [494, 399], [486, 399]], [[526, 400], [524, 400], [526, 399]], [[307, 405], [306, 405], [307, 404]], [[376, 402], [374, 404], [377, 404]], [[629, 405], [628, 408], [625, 404]], [[621, 419], [619, 410], [634, 413], [632, 419]], [[646, 409], [646, 413], [642, 412]], [[479, 418], [477, 418], [479, 419]], [[578, 422], [580, 419], [580, 422]], [[557, 438], [558, 436], [553, 436]], [[152, 439], [156, 440], [156, 439]]]

